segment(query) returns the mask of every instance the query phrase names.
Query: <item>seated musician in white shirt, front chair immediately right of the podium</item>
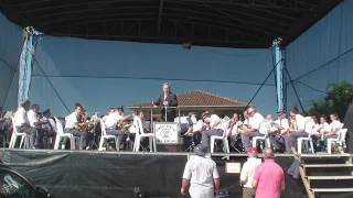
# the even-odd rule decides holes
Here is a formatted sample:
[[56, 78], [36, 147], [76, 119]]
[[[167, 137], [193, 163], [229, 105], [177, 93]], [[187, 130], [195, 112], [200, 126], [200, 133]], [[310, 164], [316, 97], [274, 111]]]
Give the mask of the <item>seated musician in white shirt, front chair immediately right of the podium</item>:
[[202, 145], [210, 146], [210, 138], [212, 135], [222, 136], [224, 127], [221, 118], [217, 114], [208, 114], [208, 112], [202, 113], [203, 121], [210, 125], [210, 130], [202, 132]]

